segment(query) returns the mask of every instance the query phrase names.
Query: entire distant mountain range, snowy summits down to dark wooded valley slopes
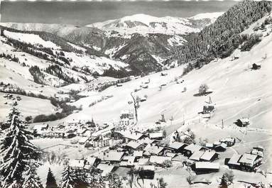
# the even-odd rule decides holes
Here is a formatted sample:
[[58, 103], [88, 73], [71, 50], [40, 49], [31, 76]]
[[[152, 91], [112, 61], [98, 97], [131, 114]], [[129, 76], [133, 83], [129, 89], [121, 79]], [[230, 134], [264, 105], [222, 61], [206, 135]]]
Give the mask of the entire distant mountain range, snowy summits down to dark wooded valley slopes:
[[[130, 71], [121, 70], [119, 74], [124, 77], [163, 70], [163, 62], [185, 43], [185, 35], [200, 32], [221, 14], [204, 13], [192, 18], [157, 18], [137, 14], [82, 27], [42, 23], [1, 23], [1, 26], [52, 33], [48, 37], [58, 36], [79, 45], [87, 50], [88, 55], [125, 62], [130, 65]], [[112, 76], [111, 73], [108, 75]]]

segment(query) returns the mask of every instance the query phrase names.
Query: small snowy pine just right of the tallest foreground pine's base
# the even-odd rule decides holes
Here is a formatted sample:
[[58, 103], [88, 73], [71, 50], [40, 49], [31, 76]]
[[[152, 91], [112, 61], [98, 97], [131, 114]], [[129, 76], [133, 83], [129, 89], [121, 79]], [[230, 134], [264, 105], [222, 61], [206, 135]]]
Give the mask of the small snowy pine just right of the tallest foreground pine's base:
[[36, 168], [38, 165], [34, 162], [28, 167], [25, 175], [25, 181], [23, 182], [23, 188], [43, 188], [43, 185], [40, 182], [40, 177], [38, 177]]

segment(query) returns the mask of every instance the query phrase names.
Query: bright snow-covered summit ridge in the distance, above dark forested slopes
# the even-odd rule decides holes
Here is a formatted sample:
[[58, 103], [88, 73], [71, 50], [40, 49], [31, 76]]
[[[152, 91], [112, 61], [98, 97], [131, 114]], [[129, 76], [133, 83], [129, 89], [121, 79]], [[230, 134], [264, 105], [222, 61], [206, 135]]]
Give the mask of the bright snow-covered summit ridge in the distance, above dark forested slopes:
[[163, 33], [168, 35], [184, 35], [197, 33], [210, 23], [213, 23], [223, 12], [201, 13], [191, 18], [177, 18], [171, 16], [155, 17], [143, 13], [132, 16], [92, 23], [88, 27], [99, 28], [104, 31], [116, 31], [122, 34], [140, 33]]

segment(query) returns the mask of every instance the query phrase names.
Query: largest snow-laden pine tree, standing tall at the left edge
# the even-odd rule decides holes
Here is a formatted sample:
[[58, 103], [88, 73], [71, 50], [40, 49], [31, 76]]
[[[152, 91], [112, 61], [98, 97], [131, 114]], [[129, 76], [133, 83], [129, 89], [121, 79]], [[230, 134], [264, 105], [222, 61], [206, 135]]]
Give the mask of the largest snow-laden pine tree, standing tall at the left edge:
[[17, 188], [23, 184], [23, 172], [28, 160], [38, 156], [36, 146], [28, 140], [28, 131], [21, 121], [20, 112], [16, 109], [17, 103], [12, 106], [5, 125], [6, 134], [0, 143], [0, 177], [2, 188]]

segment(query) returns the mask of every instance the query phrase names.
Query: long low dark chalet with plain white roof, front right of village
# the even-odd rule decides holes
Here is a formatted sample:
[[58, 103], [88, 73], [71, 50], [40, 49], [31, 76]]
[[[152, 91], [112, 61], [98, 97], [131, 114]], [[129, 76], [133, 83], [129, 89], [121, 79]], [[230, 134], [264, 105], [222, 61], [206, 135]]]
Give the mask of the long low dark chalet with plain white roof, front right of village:
[[191, 167], [197, 175], [219, 171], [219, 163], [214, 162], [195, 162]]

